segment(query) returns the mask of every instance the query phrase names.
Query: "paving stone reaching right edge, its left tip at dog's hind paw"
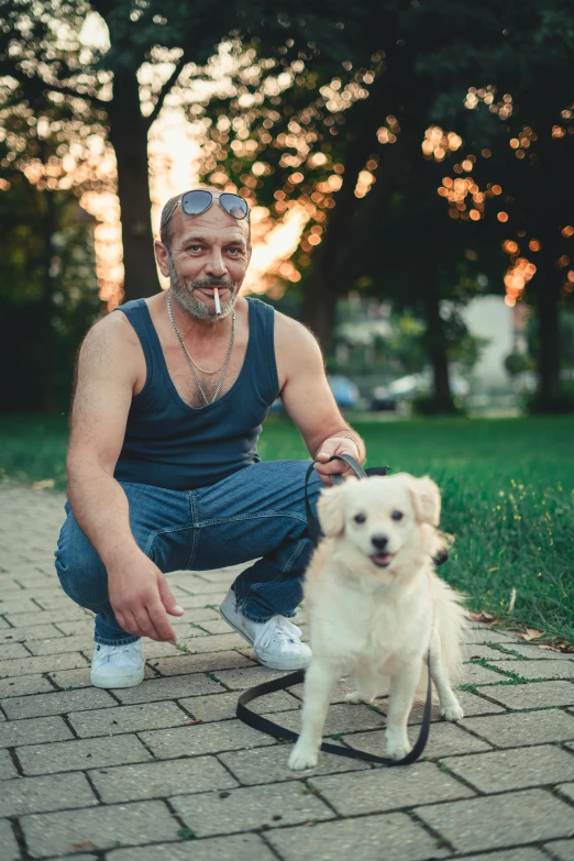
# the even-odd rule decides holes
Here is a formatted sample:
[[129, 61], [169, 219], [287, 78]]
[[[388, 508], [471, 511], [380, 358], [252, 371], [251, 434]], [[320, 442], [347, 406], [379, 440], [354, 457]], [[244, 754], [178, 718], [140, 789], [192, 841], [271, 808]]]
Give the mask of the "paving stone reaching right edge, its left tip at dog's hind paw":
[[558, 708], [470, 718], [464, 726], [499, 748], [574, 739], [574, 717]]

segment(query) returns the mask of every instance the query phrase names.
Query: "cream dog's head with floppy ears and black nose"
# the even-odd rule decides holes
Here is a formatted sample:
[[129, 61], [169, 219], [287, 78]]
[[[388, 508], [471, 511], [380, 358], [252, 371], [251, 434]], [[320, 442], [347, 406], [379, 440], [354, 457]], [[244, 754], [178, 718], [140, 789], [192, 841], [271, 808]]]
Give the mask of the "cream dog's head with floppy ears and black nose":
[[431, 541], [441, 497], [431, 478], [397, 473], [324, 488], [317, 511], [328, 538], [344, 536], [376, 569], [387, 569], [413, 542]]

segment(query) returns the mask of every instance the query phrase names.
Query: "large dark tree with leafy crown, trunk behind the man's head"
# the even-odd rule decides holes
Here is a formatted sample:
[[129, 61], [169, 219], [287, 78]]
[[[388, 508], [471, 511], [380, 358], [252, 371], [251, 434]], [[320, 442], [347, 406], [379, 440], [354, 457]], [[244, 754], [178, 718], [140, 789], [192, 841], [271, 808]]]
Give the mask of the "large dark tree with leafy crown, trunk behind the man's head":
[[[48, 103], [63, 99], [88, 107], [106, 123], [118, 166], [125, 299], [158, 289], [148, 187], [147, 139], [169, 93], [181, 102], [201, 65], [230, 31], [246, 40], [258, 34], [272, 51], [276, 34], [307, 45], [334, 33], [339, 3], [299, 0], [283, 9], [269, 3], [196, 0], [15, 0], [0, 24], [0, 75], [14, 86], [14, 99], [33, 92]], [[342, 4], [341, 4], [342, 8]], [[108, 44], [87, 44], [99, 21]], [[332, 40], [335, 42], [336, 40]], [[147, 73], [148, 82], [140, 77]]]

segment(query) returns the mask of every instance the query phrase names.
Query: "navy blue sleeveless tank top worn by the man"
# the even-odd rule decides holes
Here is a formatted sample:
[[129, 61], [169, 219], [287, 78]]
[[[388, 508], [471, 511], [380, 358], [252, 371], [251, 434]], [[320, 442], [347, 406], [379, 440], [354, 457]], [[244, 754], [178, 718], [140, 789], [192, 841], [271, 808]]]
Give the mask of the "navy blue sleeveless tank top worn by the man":
[[279, 394], [275, 312], [258, 299], [247, 302], [249, 341], [240, 375], [224, 395], [199, 408], [179, 397], [144, 299], [115, 309], [135, 330], [147, 368], [143, 389], [132, 398], [114, 472], [119, 482], [192, 490], [261, 461], [262, 423]]

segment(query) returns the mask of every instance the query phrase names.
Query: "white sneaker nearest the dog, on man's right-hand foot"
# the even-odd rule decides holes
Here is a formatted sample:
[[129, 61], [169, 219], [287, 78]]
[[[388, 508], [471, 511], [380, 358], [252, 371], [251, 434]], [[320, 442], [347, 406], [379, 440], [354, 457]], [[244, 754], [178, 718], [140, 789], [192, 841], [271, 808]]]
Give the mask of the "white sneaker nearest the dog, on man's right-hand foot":
[[273, 616], [266, 622], [247, 619], [238, 610], [235, 593], [230, 589], [219, 611], [223, 619], [253, 645], [260, 663], [272, 670], [303, 670], [311, 650], [301, 642], [301, 629], [285, 616]]

